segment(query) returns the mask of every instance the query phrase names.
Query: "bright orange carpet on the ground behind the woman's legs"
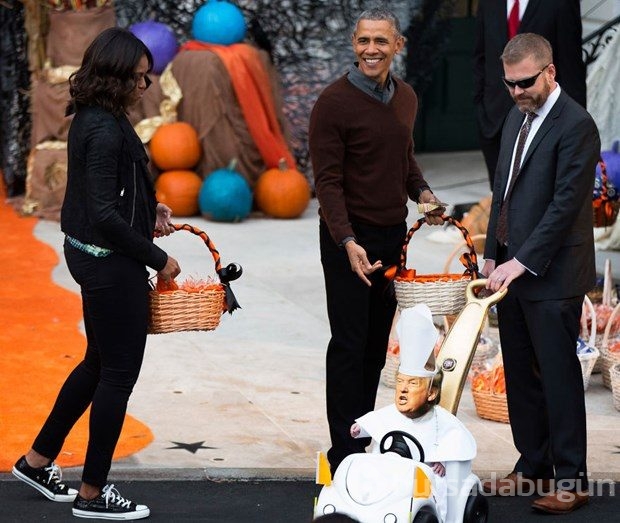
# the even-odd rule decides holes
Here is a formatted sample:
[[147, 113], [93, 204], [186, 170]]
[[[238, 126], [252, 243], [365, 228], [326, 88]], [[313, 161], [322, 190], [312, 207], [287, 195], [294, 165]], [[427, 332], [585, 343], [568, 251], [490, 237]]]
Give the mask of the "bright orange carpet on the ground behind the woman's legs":
[[[79, 295], [54, 284], [55, 251], [33, 236], [37, 218], [20, 217], [6, 203], [0, 183], [0, 471], [10, 471], [32, 444], [86, 340]], [[65, 441], [56, 462], [83, 465], [88, 412]], [[129, 456], [153, 441], [127, 416], [114, 454]]]

